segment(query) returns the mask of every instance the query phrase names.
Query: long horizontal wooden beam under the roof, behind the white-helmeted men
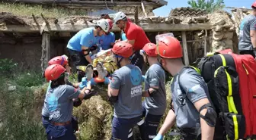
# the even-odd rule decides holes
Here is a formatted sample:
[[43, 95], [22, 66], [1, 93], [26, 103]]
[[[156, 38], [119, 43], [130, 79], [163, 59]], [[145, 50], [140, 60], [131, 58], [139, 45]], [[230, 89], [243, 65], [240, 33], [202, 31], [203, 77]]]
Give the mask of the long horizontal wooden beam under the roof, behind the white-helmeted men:
[[[79, 30], [93, 27], [93, 23], [79, 23], [79, 24], [54, 24], [46, 23], [42, 26], [41, 32], [78, 32]], [[174, 23], [139, 23], [139, 26], [146, 32], [165, 32], [165, 31], [193, 31], [193, 30], [211, 30], [212, 26], [209, 23], [198, 23], [198, 24], [174, 24]], [[114, 24], [112, 31], [120, 31], [120, 29]], [[23, 25], [6, 25], [0, 26], [0, 32], [20, 32], [20, 33], [37, 33], [40, 32], [40, 28], [34, 26], [23, 26]]]

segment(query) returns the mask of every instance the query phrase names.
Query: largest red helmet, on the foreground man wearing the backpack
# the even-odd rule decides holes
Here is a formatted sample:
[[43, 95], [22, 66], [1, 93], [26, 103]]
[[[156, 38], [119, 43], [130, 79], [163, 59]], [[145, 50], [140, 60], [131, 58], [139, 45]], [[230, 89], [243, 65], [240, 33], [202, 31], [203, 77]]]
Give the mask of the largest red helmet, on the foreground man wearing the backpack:
[[165, 36], [160, 39], [156, 45], [155, 53], [162, 58], [181, 58], [183, 56], [181, 43], [172, 36]]

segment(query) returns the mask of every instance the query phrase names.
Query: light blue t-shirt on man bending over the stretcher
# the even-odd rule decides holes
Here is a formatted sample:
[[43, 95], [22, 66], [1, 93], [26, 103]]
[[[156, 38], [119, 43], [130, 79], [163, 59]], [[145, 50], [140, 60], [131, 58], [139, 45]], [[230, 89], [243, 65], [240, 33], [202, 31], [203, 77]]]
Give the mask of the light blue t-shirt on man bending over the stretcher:
[[101, 37], [94, 36], [93, 30], [94, 27], [80, 30], [69, 40], [67, 48], [73, 51], [82, 51], [82, 45], [89, 48], [98, 45]]

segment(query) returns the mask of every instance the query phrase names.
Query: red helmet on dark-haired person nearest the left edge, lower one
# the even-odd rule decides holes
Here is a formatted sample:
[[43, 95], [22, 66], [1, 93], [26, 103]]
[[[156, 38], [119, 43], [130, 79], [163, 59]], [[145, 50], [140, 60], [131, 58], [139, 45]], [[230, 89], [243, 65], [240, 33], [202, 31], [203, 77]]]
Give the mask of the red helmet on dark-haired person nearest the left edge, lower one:
[[66, 69], [59, 64], [52, 64], [44, 71], [44, 76], [47, 81], [58, 79], [62, 73], [65, 73]]

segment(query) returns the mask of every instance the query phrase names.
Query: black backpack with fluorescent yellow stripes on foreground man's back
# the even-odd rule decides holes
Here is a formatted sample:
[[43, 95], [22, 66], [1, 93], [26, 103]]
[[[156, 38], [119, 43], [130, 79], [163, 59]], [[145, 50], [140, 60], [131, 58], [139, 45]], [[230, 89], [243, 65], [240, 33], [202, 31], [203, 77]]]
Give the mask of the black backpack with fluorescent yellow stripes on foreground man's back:
[[[244, 138], [245, 117], [239, 95], [238, 73], [232, 55], [213, 54], [188, 67], [197, 70], [203, 76], [218, 114], [213, 139]], [[181, 75], [184, 70], [185, 68], [179, 74]]]

